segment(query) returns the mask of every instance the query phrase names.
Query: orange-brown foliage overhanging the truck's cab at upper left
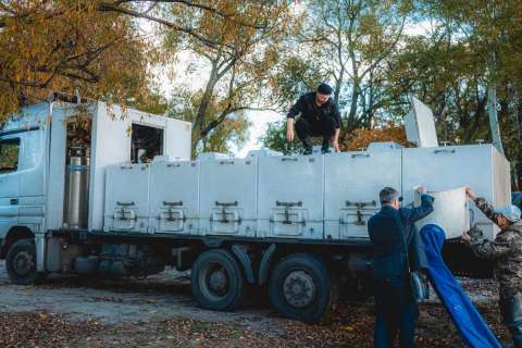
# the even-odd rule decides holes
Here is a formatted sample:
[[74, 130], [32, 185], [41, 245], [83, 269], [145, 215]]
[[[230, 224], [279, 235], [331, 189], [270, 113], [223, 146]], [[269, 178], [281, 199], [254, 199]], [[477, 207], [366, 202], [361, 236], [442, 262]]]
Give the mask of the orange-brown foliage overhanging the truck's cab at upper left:
[[90, 1], [0, 2], [0, 114], [52, 91], [125, 103], [147, 90], [149, 47], [136, 25]]

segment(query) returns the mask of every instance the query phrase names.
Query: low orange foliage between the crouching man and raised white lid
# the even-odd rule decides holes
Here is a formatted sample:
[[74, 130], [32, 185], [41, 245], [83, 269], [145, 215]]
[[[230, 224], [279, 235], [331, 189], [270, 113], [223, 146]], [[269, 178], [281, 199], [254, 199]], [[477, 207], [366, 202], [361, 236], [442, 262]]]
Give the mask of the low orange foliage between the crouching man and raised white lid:
[[405, 147], [408, 146], [403, 126], [396, 123], [387, 123], [374, 129], [359, 128], [347, 135], [341, 147], [347, 151], [359, 151], [368, 148], [370, 142], [382, 141], [395, 141]]

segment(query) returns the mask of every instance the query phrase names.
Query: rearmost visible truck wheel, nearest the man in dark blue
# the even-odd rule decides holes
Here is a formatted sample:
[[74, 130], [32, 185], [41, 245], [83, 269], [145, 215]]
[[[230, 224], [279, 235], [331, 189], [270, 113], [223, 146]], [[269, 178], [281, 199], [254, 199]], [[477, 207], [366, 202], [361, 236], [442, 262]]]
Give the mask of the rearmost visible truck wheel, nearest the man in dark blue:
[[336, 287], [324, 262], [294, 253], [277, 262], [269, 281], [272, 306], [284, 316], [318, 323], [335, 301]]

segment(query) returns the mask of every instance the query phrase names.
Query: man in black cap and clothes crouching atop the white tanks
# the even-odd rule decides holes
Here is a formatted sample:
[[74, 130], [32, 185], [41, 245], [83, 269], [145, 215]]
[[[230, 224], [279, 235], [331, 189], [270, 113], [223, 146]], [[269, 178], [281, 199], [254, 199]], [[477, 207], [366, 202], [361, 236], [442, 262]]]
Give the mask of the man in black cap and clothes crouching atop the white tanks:
[[322, 153], [330, 152], [332, 145], [335, 151], [339, 151], [340, 113], [331, 98], [332, 91], [332, 87], [321, 84], [316, 91], [302, 95], [288, 111], [286, 138], [294, 141], [295, 123], [297, 136], [304, 148], [303, 154], [312, 154], [312, 136], [323, 137]]

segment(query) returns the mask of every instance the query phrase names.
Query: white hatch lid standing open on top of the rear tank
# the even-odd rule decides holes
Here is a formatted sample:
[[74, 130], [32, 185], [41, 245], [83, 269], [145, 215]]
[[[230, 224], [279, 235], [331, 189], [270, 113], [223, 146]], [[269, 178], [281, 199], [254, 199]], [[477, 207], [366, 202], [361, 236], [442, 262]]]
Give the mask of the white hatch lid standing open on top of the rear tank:
[[420, 148], [437, 147], [437, 130], [432, 110], [419, 99], [410, 97], [410, 112], [406, 115], [408, 140]]

